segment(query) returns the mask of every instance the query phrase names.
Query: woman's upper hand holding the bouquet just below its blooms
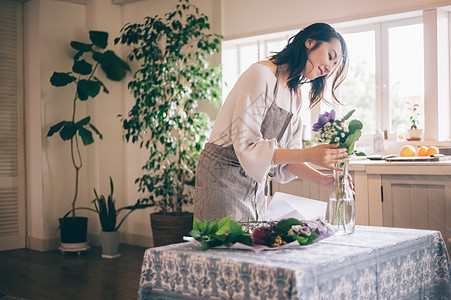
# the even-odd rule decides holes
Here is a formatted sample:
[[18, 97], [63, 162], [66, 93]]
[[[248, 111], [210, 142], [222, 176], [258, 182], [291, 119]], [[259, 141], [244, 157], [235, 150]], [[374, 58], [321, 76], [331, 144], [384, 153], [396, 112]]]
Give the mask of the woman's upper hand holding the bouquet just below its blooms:
[[335, 165], [347, 160], [348, 152], [345, 148], [337, 148], [337, 144], [321, 144], [303, 149], [306, 161], [331, 170], [343, 170]]

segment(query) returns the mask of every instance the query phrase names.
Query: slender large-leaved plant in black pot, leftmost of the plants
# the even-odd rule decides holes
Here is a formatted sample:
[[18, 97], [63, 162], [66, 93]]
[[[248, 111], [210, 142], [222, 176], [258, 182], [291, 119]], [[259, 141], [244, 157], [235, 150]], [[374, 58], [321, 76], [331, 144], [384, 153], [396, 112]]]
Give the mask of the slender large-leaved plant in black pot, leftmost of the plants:
[[102, 134], [91, 122], [90, 116], [80, 118], [77, 105], [94, 99], [102, 90], [108, 93], [103, 82], [95, 76], [98, 67], [113, 81], [122, 80], [130, 67], [116, 56], [111, 50], [104, 50], [108, 45], [108, 33], [103, 31], [89, 31], [90, 43], [72, 41], [71, 47], [76, 51], [72, 72], [54, 72], [50, 83], [55, 87], [74, 85], [75, 96], [71, 99], [72, 112], [69, 120], [59, 121], [50, 127], [47, 136], [59, 133], [63, 141], [70, 141], [71, 161], [75, 169], [75, 188], [72, 199], [72, 217], [60, 218], [60, 233], [62, 250], [85, 248], [87, 246], [87, 218], [77, 217], [75, 207], [78, 198], [78, 183], [80, 169], [83, 165], [80, 139], [84, 146], [94, 142], [93, 134], [102, 139]]

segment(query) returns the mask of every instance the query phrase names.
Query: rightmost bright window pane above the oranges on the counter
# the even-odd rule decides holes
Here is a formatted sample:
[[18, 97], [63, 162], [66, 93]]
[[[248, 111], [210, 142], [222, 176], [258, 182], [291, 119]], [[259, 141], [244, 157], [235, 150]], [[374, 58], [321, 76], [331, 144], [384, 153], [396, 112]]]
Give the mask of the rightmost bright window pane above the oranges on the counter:
[[423, 128], [423, 24], [393, 27], [388, 34], [391, 130], [410, 129], [407, 102], [419, 105], [418, 128]]

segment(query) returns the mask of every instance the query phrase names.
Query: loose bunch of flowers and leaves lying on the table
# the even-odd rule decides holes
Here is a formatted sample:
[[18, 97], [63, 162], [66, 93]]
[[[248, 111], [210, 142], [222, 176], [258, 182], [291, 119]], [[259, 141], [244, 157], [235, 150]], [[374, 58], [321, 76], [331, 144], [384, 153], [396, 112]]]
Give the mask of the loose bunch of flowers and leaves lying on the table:
[[234, 221], [231, 216], [219, 221], [194, 219], [190, 235], [202, 250], [226, 246], [253, 251], [282, 249], [293, 245], [309, 245], [335, 233], [323, 219], [280, 221]]

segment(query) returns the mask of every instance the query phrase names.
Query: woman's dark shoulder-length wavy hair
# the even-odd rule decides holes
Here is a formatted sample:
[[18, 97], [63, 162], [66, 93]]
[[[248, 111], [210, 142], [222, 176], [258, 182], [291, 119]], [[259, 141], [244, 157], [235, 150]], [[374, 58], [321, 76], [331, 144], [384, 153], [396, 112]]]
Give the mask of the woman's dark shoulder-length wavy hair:
[[[308, 39], [316, 41], [316, 44], [310, 50], [307, 50], [305, 46]], [[342, 57], [328, 76], [320, 76], [310, 81], [312, 84], [309, 94], [310, 108], [323, 99], [327, 79], [333, 74], [335, 74], [335, 77], [332, 83], [332, 97], [340, 103], [335, 95], [335, 90], [346, 78], [348, 67], [348, 48], [343, 37], [332, 26], [325, 23], [315, 23], [292, 36], [282, 51], [270, 57], [270, 60], [277, 66], [284, 64], [288, 66], [288, 87], [297, 92], [301, 84], [308, 82], [308, 79], [301, 74], [307, 64], [308, 52], [318, 48], [322, 42], [330, 42], [332, 39], [340, 41]]]

